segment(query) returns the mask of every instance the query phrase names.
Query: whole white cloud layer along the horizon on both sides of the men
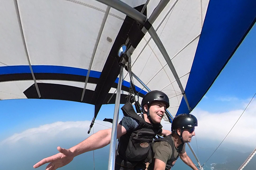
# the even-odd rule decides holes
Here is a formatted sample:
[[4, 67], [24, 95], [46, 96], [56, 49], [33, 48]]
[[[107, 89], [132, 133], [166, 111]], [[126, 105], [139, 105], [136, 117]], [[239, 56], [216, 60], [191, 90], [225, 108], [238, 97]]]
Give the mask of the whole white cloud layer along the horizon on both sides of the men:
[[[222, 141], [242, 112], [243, 110], [234, 110], [225, 113], [209, 113], [200, 109], [195, 109], [192, 114], [198, 118], [199, 126], [196, 128], [198, 140], [207, 139], [218, 142]], [[255, 113], [256, 101], [253, 101], [224, 142], [255, 147]], [[19, 142], [45, 144], [57, 139], [81, 138], [81, 136], [87, 138], [93, 132], [92, 129], [91, 134], [87, 134], [90, 123], [90, 121], [55, 122], [37, 128], [27, 129], [0, 141], [0, 146], [15, 145]], [[96, 123], [98, 124], [94, 124], [94, 132], [112, 126], [112, 124], [103, 121], [96, 121]], [[165, 129], [170, 130], [170, 124], [162, 122], [162, 125]]]

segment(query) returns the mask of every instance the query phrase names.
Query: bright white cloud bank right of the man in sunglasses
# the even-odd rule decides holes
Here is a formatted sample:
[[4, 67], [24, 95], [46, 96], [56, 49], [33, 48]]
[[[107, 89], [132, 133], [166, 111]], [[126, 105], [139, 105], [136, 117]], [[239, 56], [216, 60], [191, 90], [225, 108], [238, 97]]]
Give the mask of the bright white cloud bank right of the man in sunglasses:
[[[193, 110], [192, 114], [198, 119], [197, 138], [222, 141], [242, 112], [243, 110], [234, 110], [224, 113], [209, 113], [200, 109]], [[252, 101], [224, 142], [255, 147], [255, 113], [256, 101]]]

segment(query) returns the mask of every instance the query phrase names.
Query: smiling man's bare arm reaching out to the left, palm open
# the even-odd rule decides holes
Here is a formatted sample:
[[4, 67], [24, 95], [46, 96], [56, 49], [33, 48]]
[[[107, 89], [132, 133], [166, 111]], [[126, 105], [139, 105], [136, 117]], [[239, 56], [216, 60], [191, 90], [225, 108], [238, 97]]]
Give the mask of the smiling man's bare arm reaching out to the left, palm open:
[[[46, 170], [56, 170], [62, 166], [70, 163], [73, 158], [82, 153], [102, 148], [110, 143], [111, 139], [111, 128], [106, 130], [100, 130], [97, 133], [91, 135], [79, 144], [71, 147], [70, 149], [64, 149], [57, 147], [60, 153], [47, 157], [36, 163], [33, 167], [37, 168], [43, 164], [50, 163], [47, 165]], [[126, 133], [126, 129], [118, 125], [117, 126], [117, 138], [121, 137]]]

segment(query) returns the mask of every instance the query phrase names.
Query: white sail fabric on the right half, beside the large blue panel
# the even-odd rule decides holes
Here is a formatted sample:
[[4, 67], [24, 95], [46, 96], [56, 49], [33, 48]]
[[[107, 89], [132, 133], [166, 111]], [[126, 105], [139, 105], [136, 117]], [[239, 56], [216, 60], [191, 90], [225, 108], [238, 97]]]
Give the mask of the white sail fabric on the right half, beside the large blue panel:
[[[152, 3], [158, 2], [150, 1], [149, 13], [154, 9]], [[208, 2], [204, 1], [201, 4], [201, 1], [178, 1], [174, 5], [175, 1], [170, 1], [153, 24], [155, 29], [158, 28], [157, 34], [171, 58], [184, 89]], [[147, 33], [135, 49], [132, 55], [132, 70], [151, 90], [161, 90], [167, 94], [170, 100], [168, 110], [175, 115], [183, 97], [181, 90], [154, 41], [150, 40], [145, 46], [149, 39], [150, 35]], [[126, 77], [127, 81], [128, 79], [129, 77]], [[138, 82], [135, 85], [143, 89]]]

